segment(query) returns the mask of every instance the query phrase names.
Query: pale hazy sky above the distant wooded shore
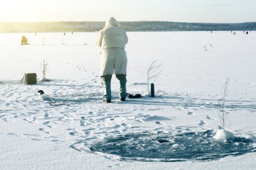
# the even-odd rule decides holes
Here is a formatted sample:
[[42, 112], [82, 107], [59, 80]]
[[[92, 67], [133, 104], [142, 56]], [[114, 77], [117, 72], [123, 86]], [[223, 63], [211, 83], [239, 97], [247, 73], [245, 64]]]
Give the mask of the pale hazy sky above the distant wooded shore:
[[256, 22], [256, 0], [0, 0], [0, 22]]

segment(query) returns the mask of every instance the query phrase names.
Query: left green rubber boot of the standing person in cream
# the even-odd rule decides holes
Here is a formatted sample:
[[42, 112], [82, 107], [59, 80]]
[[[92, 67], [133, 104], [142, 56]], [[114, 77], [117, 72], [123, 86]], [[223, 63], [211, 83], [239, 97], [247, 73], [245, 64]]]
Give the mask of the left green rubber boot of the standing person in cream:
[[111, 78], [112, 75], [104, 75], [101, 77], [101, 84], [103, 85], [103, 101], [111, 102]]

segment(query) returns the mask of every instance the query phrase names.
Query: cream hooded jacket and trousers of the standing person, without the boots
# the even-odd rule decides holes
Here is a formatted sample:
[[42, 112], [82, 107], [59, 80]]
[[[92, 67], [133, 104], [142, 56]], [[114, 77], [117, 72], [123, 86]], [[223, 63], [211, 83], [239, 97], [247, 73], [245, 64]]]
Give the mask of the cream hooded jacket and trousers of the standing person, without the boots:
[[128, 38], [125, 30], [118, 26], [117, 20], [110, 17], [105, 27], [100, 30], [96, 44], [101, 47], [100, 76], [115, 74], [126, 75], [127, 56], [125, 44]]

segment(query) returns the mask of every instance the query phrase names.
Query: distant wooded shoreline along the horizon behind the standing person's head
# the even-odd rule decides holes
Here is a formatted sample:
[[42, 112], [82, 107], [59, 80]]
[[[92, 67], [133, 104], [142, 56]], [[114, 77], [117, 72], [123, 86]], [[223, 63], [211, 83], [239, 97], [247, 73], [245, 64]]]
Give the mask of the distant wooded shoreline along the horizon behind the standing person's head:
[[[0, 32], [97, 32], [105, 22], [0, 22]], [[187, 22], [120, 22], [128, 32], [256, 30], [256, 22], [211, 24]]]

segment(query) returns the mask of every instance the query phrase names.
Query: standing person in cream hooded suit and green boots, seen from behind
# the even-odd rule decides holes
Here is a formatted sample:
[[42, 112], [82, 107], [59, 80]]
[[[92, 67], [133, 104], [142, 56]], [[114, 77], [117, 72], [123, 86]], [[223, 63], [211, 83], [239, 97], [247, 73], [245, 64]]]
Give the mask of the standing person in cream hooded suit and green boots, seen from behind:
[[105, 27], [100, 30], [96, 44], [101, 47], [100, 56], [100, 77], [104, 89], [103, 101], [111, 102], [111, 78], [115, 71], [119, 79], [119, 97], [125, 101], [126, 97], [126, 75], [127, 75], [127, 56], [125, 44], [128, 38], [125, 30], [118, 26], [114, 17], [110, 17]]

